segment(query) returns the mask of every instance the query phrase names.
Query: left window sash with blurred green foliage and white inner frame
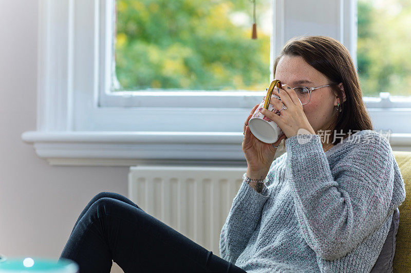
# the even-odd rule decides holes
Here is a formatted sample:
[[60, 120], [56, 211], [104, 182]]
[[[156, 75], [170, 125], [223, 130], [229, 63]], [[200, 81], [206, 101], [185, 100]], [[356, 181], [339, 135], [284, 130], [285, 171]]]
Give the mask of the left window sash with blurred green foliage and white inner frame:
[[257, 39], [250, 0], [107, 3], [99, 106], [244, 108], [269, 86], [272, 0], [256, 1]]

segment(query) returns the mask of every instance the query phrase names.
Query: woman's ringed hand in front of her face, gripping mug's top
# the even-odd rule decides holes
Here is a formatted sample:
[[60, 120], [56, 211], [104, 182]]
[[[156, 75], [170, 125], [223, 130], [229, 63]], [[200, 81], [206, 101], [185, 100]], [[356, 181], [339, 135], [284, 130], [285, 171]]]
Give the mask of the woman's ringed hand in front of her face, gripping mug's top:
[[283, 85], [281, 88], [275, 87], [273, 94], [281, 98], [281, 100], [279, 100], [275, 97], [271, 97], [270, 103], [273, 104], [275, 109], [280, 110], [283, 107], [283, 104], [287, 109], [281, 110], [280, 114], [277, 115], [267, 109], [260, 108], [259, 112], [261, 114], [277, 123], [287, 138], [297, 135], [298, 130], [301, 129], [305, 129], [315, 135], [315, 131], [311, 127], [311, 124], [304, 113], [303, 105], [291, 87], [287, 85]]

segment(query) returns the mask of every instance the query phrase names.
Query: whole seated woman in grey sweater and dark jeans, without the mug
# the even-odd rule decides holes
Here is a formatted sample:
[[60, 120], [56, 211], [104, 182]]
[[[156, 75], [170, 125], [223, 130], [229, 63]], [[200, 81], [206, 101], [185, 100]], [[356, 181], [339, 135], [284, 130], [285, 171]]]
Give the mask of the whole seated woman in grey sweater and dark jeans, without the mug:
[[[81, 272], [109, 272], [112, 260], [126, 273], [369, 272], [405, 188], [388, 141], [372, 131], [349, 53], [330, 37], [292, 39], [274, 78], [279, 112], [259, 111], [284, 134], [263, 143], [246, 119], [248, 168], [221, 229], [221, 258], [115, 193], [88, 203], [61, 258]], [[283, 139], [287, 152], [274, 160]]]

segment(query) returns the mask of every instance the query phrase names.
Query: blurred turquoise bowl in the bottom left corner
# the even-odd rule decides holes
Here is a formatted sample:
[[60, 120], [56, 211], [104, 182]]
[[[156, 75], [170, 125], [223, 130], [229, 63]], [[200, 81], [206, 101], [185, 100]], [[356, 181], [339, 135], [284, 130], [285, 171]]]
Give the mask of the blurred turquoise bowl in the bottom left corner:
[[0, 258], [0, 273], [78, 273], [77, 263], [61, 259], [59, 261], [42, 258]]

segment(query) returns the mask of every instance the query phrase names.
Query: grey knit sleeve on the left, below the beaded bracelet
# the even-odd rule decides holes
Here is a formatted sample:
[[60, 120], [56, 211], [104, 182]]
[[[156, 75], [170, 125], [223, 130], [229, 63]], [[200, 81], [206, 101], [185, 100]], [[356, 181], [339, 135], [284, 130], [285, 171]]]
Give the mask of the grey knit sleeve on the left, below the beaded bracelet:
[[245, 180], [242, 181], [221, 229], [219, 246], [222, 259], [235, 264], [260, 221], [268, 197], [269, 191], [265, 185], [259, 194]]

